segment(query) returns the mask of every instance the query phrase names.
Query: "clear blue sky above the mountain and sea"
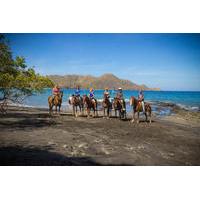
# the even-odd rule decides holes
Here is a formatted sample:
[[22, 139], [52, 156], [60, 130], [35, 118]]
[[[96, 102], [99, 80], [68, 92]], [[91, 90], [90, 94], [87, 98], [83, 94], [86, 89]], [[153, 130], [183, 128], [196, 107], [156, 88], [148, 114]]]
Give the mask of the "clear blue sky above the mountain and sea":
[[200, 90], [200, 34], [6, 34], [37, 72], [113, 73], [162, 90]]

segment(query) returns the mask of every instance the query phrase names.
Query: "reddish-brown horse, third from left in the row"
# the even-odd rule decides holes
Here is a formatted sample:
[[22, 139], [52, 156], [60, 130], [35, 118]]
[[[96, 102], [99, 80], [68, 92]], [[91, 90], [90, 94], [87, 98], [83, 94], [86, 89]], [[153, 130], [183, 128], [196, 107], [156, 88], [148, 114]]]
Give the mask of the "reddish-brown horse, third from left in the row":
[[90, 99], [87, 95], [83, 95], [83, 104], [86, 107], [87, 117], [88, 118], [90, 117], [90, 111], [91, 111], [91, 109], [93, 109], [93, 111], [94, 111], [93, 117], [98, 116], [97, 101], [95, 99]]

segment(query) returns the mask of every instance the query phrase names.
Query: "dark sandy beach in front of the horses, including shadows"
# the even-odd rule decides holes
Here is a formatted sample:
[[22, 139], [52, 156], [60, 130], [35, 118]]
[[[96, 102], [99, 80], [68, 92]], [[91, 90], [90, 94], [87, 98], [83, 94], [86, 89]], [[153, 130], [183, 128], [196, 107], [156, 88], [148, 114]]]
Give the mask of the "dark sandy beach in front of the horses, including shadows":
[[200, 165], [200, 113], [137, 125], [11, 107], [0, 114], [0, 165]]

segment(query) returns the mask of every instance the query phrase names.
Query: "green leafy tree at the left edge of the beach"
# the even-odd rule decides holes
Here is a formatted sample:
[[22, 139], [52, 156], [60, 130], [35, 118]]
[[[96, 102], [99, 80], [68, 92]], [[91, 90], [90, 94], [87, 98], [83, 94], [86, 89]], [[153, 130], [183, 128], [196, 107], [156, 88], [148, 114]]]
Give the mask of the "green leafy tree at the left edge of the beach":
[[0, 100], [21, 102], [27, 96], [41, 93], [53, 82], [28, 67], [24, 57], [12, 56], [4, 35], [0, 35]]

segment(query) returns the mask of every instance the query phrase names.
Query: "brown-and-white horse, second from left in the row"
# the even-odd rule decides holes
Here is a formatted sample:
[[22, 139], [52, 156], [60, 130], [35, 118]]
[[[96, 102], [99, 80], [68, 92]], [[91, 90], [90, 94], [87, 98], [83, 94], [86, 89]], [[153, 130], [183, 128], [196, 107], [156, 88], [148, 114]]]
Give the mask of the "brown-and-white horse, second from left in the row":
[[78, 117], [77, 107], [79, 107], [80, 112], [82, 112], [83, 114], [83, 98], [81, 96], [77, 97], [75, 95], [72, 95], [69, 98], [69, 104], [73, 106], [73, 115], [75, 117]]

